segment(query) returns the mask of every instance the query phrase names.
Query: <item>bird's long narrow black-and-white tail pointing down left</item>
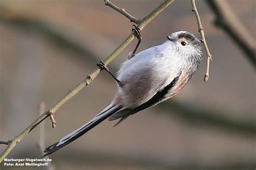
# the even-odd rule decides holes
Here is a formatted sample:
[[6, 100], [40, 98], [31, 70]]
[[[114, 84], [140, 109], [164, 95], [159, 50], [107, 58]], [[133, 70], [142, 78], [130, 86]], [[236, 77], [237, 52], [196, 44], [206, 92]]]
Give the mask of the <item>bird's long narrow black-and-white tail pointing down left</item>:
[[73, 131], [72, 133], [68, 134], [64, 138], [60, 139], [56, 144], [53, 144], [44, 150], [44, 156], [49, 155], [60, 148], [62, 148], [65, 145], [68, 145], [73, 140], [76, 140], [80, 136], [82, 136], [84, 133], [88, 132], [92, 128], [94, 128], [96, 125], [98, 125], [100, 122], [104, 121], [107, 117], [111, 116], [118, 110], [122, 109], [122, 106], [120, 105], [112, 105], [110, 104], [106, 109], [104, 109], [102, 112], [100, 112], [98, 115], [95, 116], [90, 122], [83, 125], [81, 128]]

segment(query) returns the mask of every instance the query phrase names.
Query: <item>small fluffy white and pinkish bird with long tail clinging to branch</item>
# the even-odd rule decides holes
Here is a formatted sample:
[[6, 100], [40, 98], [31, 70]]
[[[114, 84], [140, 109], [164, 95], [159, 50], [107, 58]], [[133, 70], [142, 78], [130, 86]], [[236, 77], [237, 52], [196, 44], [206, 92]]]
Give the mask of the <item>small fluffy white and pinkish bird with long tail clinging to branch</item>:
[[46, 148], [44, 157], [76, 140], [106, 118], [109, 121], [120, 118], [118, 125], [127, 117], [166, 101], [176, 95], [196, 72], [202, 59], [201, 41], [192, 33], [174, 32], [163, 44], [135, 55], [142, 38], [139, 27], [134, 27], [132, 30], [139, 41], [128, 60], [122, 63], [118, 76], [115, 77], [102, 61], [97, 64], [117, 81], [117, 93], [111, 104], [90, 122]]

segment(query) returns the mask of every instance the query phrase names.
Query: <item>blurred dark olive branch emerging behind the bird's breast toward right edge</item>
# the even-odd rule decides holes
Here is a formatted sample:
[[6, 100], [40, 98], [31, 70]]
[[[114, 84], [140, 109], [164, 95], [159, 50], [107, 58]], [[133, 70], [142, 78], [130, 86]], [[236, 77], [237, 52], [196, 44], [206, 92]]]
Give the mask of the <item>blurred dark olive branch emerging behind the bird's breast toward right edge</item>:
[[256, 124], [254, 119], [232, 117], [231, 112], [221, 111], [219, 109], [201, 109], [190, 104], [179, 103], [177, 101], [163, 102], [157, 106], [159, 109], [169, 111], [171, 114], [176, 114], [177, 117], [182, 117], [190, 124], [205, 124], [217, 126], [233, 132], [244, 135], [256, 134]]

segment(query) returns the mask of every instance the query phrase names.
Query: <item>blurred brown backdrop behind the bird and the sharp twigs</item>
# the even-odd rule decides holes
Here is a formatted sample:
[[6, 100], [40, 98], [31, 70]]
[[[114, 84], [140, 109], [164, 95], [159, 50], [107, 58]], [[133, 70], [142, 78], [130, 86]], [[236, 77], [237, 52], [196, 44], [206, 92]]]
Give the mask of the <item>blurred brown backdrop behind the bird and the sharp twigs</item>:
[[[162, 1], [114, 1], [143, 18]], [[227, 1], [255, 40], [255, 1]], [[53, 169], [255, 169], [254, 64], [221, 29], [206, 1], [197, 1], [213, 55], [203, 81], [206, 54], [181, 92], [130, 116], [116, 128], [104, 121], [50, 155]], [[0, 1], [0, 139], [12, 139], [89, 74], [130, 34], [132, 23], [97, 1]], [[142, 31], [138, 52], [176, 31], [200, 37], [190, 1], [175, 1]], [[110, 63], [113, 73], [137, 39]], [[255, 41], [254, 45], [255, 47]], [[204, 51], [204, 49], [203, 49]], [[45, 120], [45, 146], [76, 130], [108, 105], [116, 82], [105, 72]], [[7, 158], [41, 158], [39, 126]], [[3, 153], [6, 145], [0, 145]], [[4, 167], [0, 169], [46, 169]]]

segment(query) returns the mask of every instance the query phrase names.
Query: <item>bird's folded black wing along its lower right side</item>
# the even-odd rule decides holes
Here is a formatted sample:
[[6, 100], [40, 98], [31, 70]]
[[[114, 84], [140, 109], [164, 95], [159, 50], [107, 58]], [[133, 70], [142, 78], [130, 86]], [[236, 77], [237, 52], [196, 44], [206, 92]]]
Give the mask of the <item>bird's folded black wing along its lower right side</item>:
[[[180, 73], [181, 74], [181, 73]], [[179, 76], [180, 76], [179, 74]], [[133, 115], [139, 111], [142, 111], [146, 108], [150, 108], [156, 104], [158, 104], [159, 102], [161, 101], [164, 101], [165, 99], [165, 96], [167, 94], [169, 94], [170, 90], [175, 86], [175, 84], [177, 83], [178, 79], [179, 79], [179, 76], [175, 77], [172, 82], [170, 84], [168, 84], [166, 87], [164, 87], [163, 89], [161, 89], [160, 91], [158, 91], [152, 98], [150, 98], [149, 101], [139, 105], [138, 107], [136, 108], [132, 108], [132, 109], [129, 109], [129, 108], [126, 108], [126, 109], [123, 109], [123, 110], [120, 110], [116, 113], [114, 113], [113, 115], [111, 115], [109, 117], [109, 121], [113, 121], [113, 120], [116, 120], [118, 118], [122, 118], [120, 119], [120, 121], [116, 124], [118, 125], [119, 123], [121, 123], [122, 121], [124, 121], [124, 119], [126, 119], [127, 117], [129, 117], [130, 115]], [[114, 125], [114, 126], [116, 126]]]

